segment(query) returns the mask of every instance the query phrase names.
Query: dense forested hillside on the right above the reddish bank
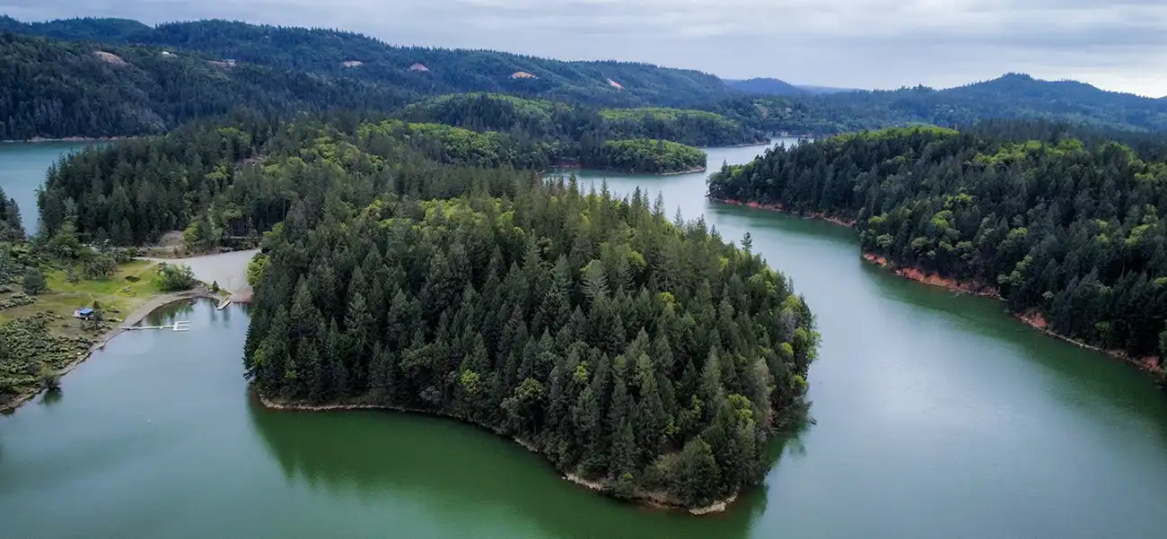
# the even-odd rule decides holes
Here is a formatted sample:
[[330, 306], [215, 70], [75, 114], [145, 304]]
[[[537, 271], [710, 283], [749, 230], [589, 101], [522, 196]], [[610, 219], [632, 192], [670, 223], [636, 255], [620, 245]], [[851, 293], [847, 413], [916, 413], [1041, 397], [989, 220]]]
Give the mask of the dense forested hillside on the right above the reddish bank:
[[777, 148], [713, 175], [710, 196], [854, 219], [864, 250], [894, 265], [999, 290], [1011, 310], [1061, 335], [1167, 357], [1161, 153], [1016, 141], [1006, 125]]

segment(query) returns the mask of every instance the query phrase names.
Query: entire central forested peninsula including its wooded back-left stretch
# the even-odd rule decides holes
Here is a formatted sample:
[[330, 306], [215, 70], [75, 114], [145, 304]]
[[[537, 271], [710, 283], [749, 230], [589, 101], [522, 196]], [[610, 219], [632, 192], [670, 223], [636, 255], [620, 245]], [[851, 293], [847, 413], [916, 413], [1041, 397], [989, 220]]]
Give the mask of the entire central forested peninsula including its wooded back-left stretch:
[[819, 340], [790, 282], [663, 201], [544, 177], [540, 142], [480, 138], [516, 140], [193, 125], [64, 161], [42, 226], [128, 245], [264, 233], [244, 362], [268, 406], [457, 418], [655, 505], [721, 509], [759, 484]]

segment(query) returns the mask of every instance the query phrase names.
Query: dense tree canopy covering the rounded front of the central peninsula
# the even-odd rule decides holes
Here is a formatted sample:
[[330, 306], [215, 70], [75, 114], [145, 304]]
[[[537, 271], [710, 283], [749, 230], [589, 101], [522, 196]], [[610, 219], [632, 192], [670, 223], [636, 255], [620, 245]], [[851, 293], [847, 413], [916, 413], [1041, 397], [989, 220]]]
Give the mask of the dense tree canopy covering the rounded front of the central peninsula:
[[457, 198], [315, 224], [296, 203], [267, 235], [246, 346], [261, 394], [462, 418], [629, 497], [759, 483], [818, 341], [789, 281], [640, 191], [454, 174]]

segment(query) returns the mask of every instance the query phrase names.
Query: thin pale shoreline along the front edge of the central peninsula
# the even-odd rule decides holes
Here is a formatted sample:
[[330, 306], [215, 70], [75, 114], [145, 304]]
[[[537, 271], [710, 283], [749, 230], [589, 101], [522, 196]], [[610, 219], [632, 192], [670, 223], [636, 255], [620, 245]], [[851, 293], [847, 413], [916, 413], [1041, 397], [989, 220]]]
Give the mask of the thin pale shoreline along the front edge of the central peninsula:
[[[428, 411], [428, 410], [406, 408], [404, 406], [385, 406], [385, 405], [373, 405], [373, 404], [364, 404], [364, 402], [327, 404], [327, 405], [310, 405], [310, 404], [302, 404], [302, 402], [281, 402], [281, 401], [277, 401], [277, 400], [273, 400], [273, 399], [270, 399], [267, 397], [264, 397], [264, 396], [259, 394], [259, 392], [256, 391], [254, 388], [252, 388], [250, 391], [250, 393], [251, 393], [252, 398], [254, 398], [256, 401], [259, 402], [259, 405], [263, 406], [265, 410], [275, 411], [275, 412], [288, 412], [288, 413], [320, 413], [320, 412], [326, 412], [326, 413], [336, 413], [336, 412], [354, 412], [354, 411], [366, 410], [366, 411], [387, 411], [387, 412], [398, 412], [398, 413], [408, 413], [408, 414], [419, 414], [419, 415], [445, 418], [445, 419], [459, 421], [459, 422], [462, 422], [462, 424], [467, 424], [467, 425], [473, 425], [473, 426], [476, 426], [476, 427], [481, 427], [481, 428], [483, 428], [483, 429], [485, 429], [485, 430], [488, 430], [490, 433], [494, 433], [497, 436], [501, 436], [501, 438], [504, 438], [506, 440], [513, 441], [515, 443], [518, 443], [519, 446], [522, 446], [524, 449], [526, 449], [526, 450], [529, 450], [531, 453], [534, 453], [536, 455], [539, 455], [540, 457], [544, 459], [544, 462], [546, 462], [547, 464], [550, 464], [552, 467], [552, 469], [555, 469], [554, 464], [552, 464], [551, 461], [547, 460], [546, 455], [544, 455], [541, 452], [539, 452], [533, 444], [531, 444], [531, 442], [529, 442], [526, 440], [518, 439], [518, 438], [510, 436], [508, 434], [503, 434], [501, 430], [498, 430], [498, 429], [496, 429], [496, 428], [494, 428], [494, 427], [491, 427], [489, 425], [481, 424], [481, 422], [475, 421], [473, 419], [462, 418], [460, 415], [454, 415], [454, 414], [450, 414], [450, 413], [433, 412], [433, 411]], [[587, 490], [592, 490], [594, 492], [601, 494], [603, 496], [615, 497], [615, 496], [613, 496], [613, 488], [609, 484], [607, 484], [607, 483], [605, 483], [602, 481], [586, 480], [586, 478], [580, 477], [580, 476], [578, 476], [575, 474], [562, 473], [562, 471], [560, 471], [558, 469], [555, 469], [555, 474], [559, 475], [559, 477], [561, 480], [567, 481], [568, 483], [574, 483], [574, 484], [576, 484], [579, 487], [582, 487], [582, 488], [585, 488]], [[617, 498], [617, 499], [621, 499], [621, 498]], [[710, 505], [706, 505], [706, 506], [703, 506], [703, 508], [686, 508], [686, 506], [683, 506], [683, 505], [677, 505], [677, 504], [670, 503], [669, 499], [668, 499], [668, 495], [665, 495], [663, 492], [642, 492], [641, 496], [637, 496], [637, 497], [631, 498], [631, 499], [624, 499], [624, 502], [635, 503], [637, 505], [641, 505], [641, 506], [644, 506], [644, 508], [649, 508], [649, 509], [658, 509], [658, 510], [664, 510], [664, 511], [677, 511], [677, 512], [682, 512], [683, 511], [683, 512], [687, 512], [690, 514], [700, 517], [700, 516], [705, 516], [705, 514], [713, 514], [713, 513], [725, 512], [725, 511], [727, 511], [729, 509], [729, 504], [734, 503], [736, 499], [738, 499], [738, 492], [734, 492], [728, 498], [714, 501]]]

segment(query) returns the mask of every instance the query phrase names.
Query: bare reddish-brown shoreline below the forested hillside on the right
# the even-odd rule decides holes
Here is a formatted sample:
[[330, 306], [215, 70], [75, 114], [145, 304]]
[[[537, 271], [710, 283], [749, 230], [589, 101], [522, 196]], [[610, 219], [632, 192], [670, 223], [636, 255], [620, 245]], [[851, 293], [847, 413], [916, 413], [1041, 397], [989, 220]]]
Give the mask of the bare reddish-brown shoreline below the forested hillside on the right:
[[[794, 211], [790, 211], [790, 210], [785, 209], [781, 204], [761, 204], [761, 203], [757, 203], [757, 202], [741, 202], [741, 201], [738, 201], [738, 200], [734, 200], [734, 198], [715, 198], [715, 197], [708, 197], [708, 198], [711, 201], [715, 201], [715, 202], [720, 202], [720, 203], [729, 204], [729, 205], [741, 205], [741, 206], [756, 208], [756, 209], [762, 209], [762, 210], [777, 211], [777, 212], [781, 212], [781, 214], [790, 214], [790, 215], [797, 215], [797, 216], [805, 217], [805, 218], [815, 218], [815, 219], [819, 219], [819, 220], [825, 220], [827, 223], [838, 224], [838, 225], [841, 225], [841, 226], [846, 226], [848, 229], [854, 229], [855, 228], [854, 219], [844, 219], [844, 218], [839, 218], [839, 217], [831, 217], [831, 216], [823, 215], [820, 212], [815, 212], [815, 214], [797, 214], [797, 212], [794, 212]], [[882, 267], [882, 268], [885, 268], [887, 271], [890, 271], [895, 275], [900, 275], [900, 276], [902, 276], [904, 279], [908, 279], [908, 280], [911, 280], [911, 281], [916, 281], [916, 282], [920, 282], [920, 284], [923, 284], [923, 285], [929, 285], [929, 286], [936, 286], [936, 287], [945, 288], [948, 290], [958, 292], [958, 293], [962, 293], [962, 294], [971, 294], [971, 295], [977, 295], [977, 296], [981, 296], [981, 298], [994, 299], [994, 300], [998, 300], [998, 301], [1005, 301], [1005, 299], [1001, 298], [1000, 290], [998, 290], [993, 286], [990, 286], [990, 285], [986, 285], [986, 284], [983, 284], [983, 282], [963, 282], [963, 281], [958, 281], [956, 279], [949, 279], [949, 278], [941, 276], [937, 273], [925, 273], [924, 271], [922, 271], [922, 270], [920, 270], [917, 267], [900, 267], [900, 266], [896, 266], [895, 264], [890, 262], [889, 260], [887, 260], [887, 258], [880, 257], [880, 256], [871, 253], [871, 252], [864, 252], [861, 254], [861, 258], [865, 261], [869, 262], [869, 264], [880, 266], [880, 267]], [[1140, 371], [1144, 371], [1144, 372], [1146, 372], [1148, 374], [1154, 376], [1154, 374], [1160, 374], [1160, 373], [1163, 372], [1163, 369], [1161, 369], [1161, 368], [1158, 366], [1159, 358], [1156, 356], [1133, 357], [1130, 354], [1127, 354], [1125, 350], [1107, 350], [1107, 349], [1104, 349], [1104, 348], [1100, 348], [1100, 346], [1095, 346], [1092, 344], [1086, 344], [1084, 342], [1077, 341], [1077, 340], [1075, 340], [1072, 337], [1069, 337], [1067, 335], [1062, 335], [1062, 334], [1058, 334], [1056, 331], [1053, 331], [1053, 330], [1049, 329], [1049, 324], [1046, 321], [1044, 314], [1041, 313], [1037, 309], [1030, 309], [1030, 310], [1028, 310], [1026, 313], [1009, 313], [1009, 316], [1012, 316], [1016, 321], [1021, 322], [1022, 324], [1028, 326], [1028, 327], [1030, 327], [1033, 329], [1036, 329], [1037, 331], [1041, 331], [1041, 332], [1043, 332], [1043, 334], [1046, 334], [1046, 335], [1048, 335], [1050, 337], [1054, 337], [1054, 338], [1057, 338], [1057, 340], [1061, 340], [1061, 341], [1065, 341], [1065, 342], [1075, 344], [1075, 345], [1077, 345], [1079, 348], [1084, 348], [1084, 349], [1088, 349], [1088, 350], [1100, 352], [1100, 354], [1110, 356], [1111, 358], [1114, 358], [1114, 359], [1119, 359], [1119, 360], [1121, 360], [1124, 363], [1134, 365]]]

